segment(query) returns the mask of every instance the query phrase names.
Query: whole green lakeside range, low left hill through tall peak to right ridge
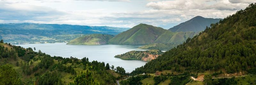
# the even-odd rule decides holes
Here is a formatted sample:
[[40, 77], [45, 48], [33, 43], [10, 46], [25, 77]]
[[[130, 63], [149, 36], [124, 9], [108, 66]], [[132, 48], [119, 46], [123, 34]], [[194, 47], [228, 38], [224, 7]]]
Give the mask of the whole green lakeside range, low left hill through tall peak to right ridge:
[[168, 49], [196, 34], [196, 32], [171, 32], [161, 27], [139, 24], [113, 38], [111, 35], [92, 34], [71, 40], [68, 45], [146, 45], [140, 48]]

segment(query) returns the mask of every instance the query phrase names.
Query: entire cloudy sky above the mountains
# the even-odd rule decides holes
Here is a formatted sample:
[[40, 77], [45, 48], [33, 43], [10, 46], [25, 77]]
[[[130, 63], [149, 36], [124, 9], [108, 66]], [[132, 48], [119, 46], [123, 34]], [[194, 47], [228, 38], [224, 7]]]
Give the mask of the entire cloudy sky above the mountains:
[[169, 29], [193, 17], [225, 18], [255, 0], [0, 0], [0, 23]]

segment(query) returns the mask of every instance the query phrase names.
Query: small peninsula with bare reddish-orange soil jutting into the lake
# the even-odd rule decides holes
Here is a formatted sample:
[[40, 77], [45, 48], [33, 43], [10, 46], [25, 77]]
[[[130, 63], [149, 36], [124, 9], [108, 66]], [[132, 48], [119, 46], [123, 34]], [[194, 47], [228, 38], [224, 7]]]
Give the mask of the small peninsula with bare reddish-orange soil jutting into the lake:
[[120, 58], [125, 60], [151, 61], [153, 59], [156, 59], [161, 54], [163, 54], [163, 52], [159, 50], [130, 51], [124, 54], [116, 55], [115, 58]]

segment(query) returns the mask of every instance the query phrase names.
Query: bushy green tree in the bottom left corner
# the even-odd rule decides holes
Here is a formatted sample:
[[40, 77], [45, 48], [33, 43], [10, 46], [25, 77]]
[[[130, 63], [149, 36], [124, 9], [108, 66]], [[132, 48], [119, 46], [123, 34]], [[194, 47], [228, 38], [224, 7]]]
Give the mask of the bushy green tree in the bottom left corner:
[[0, 66], [0, 85], [20, 85], [18, 73], [11, 64]]

